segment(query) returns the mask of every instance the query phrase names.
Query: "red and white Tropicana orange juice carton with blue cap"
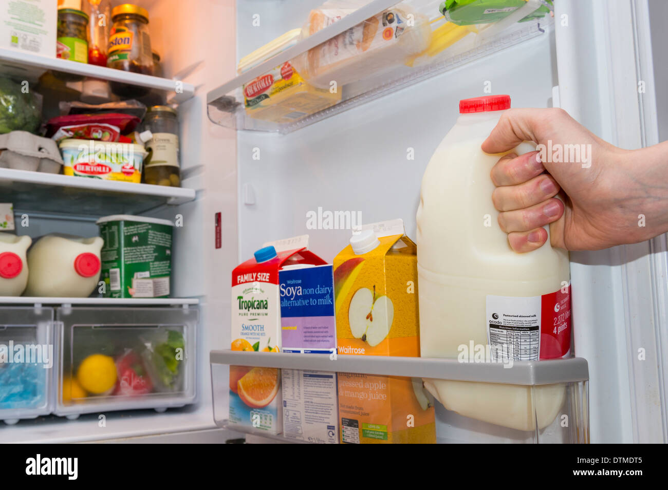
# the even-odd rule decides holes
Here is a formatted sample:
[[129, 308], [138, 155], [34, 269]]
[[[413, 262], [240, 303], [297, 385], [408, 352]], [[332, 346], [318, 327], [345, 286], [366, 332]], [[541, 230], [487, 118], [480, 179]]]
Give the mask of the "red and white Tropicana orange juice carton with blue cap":
[[[287, 264], [324, 264], [299, 240], [268, 245], [232, 271], [232, 350], [279, 352], [279, 270]], [[286, 242], [294, 248], [286, 249]], [[229, 423], [280, 434], [283, 427], [281, 370], [230, 366]]]

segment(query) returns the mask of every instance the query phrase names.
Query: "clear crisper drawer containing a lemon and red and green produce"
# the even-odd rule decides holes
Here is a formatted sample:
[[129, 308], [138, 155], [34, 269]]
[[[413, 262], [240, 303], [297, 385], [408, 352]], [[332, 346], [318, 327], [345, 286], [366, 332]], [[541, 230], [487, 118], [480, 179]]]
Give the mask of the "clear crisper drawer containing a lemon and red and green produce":
[[196, 308], [63, 307], [55, 314], [56, 415], [194, 403]]

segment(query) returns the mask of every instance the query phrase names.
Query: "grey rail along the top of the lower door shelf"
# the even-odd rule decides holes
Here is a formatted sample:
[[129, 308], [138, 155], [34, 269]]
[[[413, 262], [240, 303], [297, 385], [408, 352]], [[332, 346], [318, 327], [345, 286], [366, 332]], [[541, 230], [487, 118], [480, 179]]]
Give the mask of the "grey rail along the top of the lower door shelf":
[[551, 385], [589, 380], [587, 360], [580, 357], [539, 361], [460, 362], [454, 358], [315, 355], [285, 352], [240, 352], [212, 350], [211, 364], [274, 367], [337, 373], [403, 376], [510, 383], [512, 385]]

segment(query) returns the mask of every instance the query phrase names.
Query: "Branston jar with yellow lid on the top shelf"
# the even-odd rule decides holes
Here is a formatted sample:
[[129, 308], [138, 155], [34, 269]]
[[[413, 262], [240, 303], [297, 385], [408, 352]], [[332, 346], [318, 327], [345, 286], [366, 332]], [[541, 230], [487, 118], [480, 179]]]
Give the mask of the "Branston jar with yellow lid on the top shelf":
[[[148, 32], [148, 11], [132, 3], [112, 9], [112, 30], [109, 35], [107, 66], [110, 68], [153, 75], [153, 55]], [[150, 88], [110, 82], [112, 92], [120, 97], [142, 97]]]

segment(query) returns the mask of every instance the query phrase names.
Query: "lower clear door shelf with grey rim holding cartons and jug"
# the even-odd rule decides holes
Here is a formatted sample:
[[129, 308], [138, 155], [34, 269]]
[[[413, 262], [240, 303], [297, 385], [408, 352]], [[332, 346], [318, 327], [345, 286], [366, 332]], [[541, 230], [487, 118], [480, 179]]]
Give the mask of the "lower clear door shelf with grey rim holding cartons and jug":
[[[374, 386], [386, 383], [383, 379], [387, 376], [412, 378], [422, 409], [436, 406], [439, 443], [589, 443], [589, 369], [582, 358], [522, 361], [504, 367], [501, 362], [446, 358], [214, 350], [210, 364], [214, 420], [234, 431], [275, 438], [260, 428], [229, 423], [228, 364], [335, 371], [339, 373], [339, 396], [341, 373], [356, 373], [359, 378], [354, 379], [359, 381], [344, 389], [359, 399], [369, 396], [367, 392]], [[419, 397], [420, 379], [424, 393]], [[437, 391], [444, 405], [434, 400]], [[339, 424], [343, 423], [341, 417], [355, 419], [354, 413], [344, 415], [339, 401]]]

